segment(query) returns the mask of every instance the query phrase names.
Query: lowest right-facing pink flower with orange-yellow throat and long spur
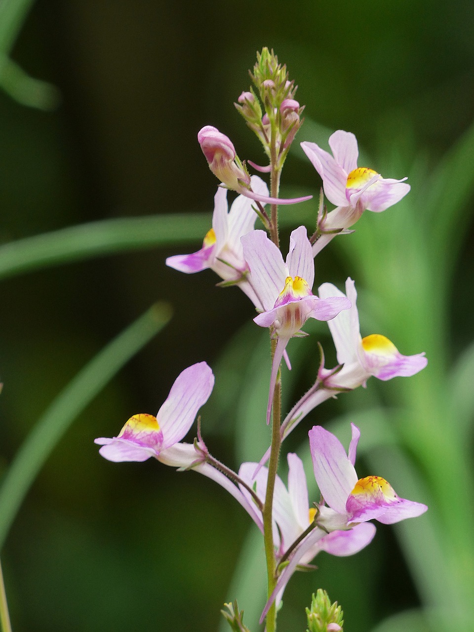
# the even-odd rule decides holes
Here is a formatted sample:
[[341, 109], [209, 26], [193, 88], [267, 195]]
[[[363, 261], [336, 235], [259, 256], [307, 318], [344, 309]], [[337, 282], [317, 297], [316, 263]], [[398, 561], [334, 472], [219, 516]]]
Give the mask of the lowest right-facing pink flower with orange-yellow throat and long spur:
[[[368, 520], [378, 520], [385, 525], [416, 518], [427, 511], [421, 502], [400, 498], [390, 483], [379, 476], [358, 478], [354, 463], [360, 430], [352, 423], [352, 439], [346, 454], [343, 445], [331, 432], [314, 426], [309, 432], [313, 470], [325, 504], [319, 506], [317, 525], [330, 534], [365, 525]], [[263, 621], [273, 600], [281, 595], [296, 566], [305, 559], [309, 550], [318, 542], [319, 530], [313, 530], [293, 551], [288, 566], [278, 578], [275, 590], [265, 605], [260, 621]], [[374, 535], [375, 528], [372, 530]], [[322, 532], [324, 533], [324, 532]], [[350, 533], [350, 532], [349, 532]], [[361, 533], [361, 540], [372, 537]], [[363, 547], [360, 547], [363, 548]]]

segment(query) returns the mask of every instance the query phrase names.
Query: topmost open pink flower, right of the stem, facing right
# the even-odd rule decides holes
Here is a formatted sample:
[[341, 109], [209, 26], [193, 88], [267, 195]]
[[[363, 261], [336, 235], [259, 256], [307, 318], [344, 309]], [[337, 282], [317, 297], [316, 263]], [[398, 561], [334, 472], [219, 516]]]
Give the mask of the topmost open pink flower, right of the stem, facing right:
[[316, 143], [305, 141], [301, 148], [322, 178], [324, 193], [336, 209], [320, 223], [322, 236], [313, 245], [313, 255], [322, 250], [338, 232], [355, 224], [364, 210], [379, 213], [399, 202], [410, 185], [402, 178], [382, 178], [377, 171], [358, 167], [359, 150], [355, 135], [337, 130], [329, 137], [332, 154]]

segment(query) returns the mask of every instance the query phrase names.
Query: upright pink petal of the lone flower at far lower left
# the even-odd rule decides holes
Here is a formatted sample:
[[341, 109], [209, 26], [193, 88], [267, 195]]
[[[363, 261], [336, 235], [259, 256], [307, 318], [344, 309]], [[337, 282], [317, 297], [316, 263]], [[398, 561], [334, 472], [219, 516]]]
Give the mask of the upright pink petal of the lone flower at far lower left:
[[162, 447], [173, 446], [190, 430], [198, 410], [214, 387], [214, 375], [205, 362], [185, 368], [176, 378], [157, 414], [163, 433]]

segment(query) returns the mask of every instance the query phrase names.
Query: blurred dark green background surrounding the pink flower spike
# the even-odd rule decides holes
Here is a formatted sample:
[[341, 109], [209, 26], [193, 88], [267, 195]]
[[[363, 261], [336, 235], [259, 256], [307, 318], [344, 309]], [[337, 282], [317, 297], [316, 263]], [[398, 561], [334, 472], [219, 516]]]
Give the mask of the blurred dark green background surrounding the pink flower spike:
[[[18, 38], [6, 28], [12, 15]], [[9, 33], [0, 50], [11, 52], [17, 70], [58, 90], [18, 76], [2, 59], [5, 246], [83, 222], [209, 213], [217, 181], [197, 131], [214, 125], [242, 159], [263, 161], [233, 107], [262, 46], [275, 49], [300, 86], [308, 124], [298, 141], [324, 142], [325, 131], [311, 121], [353, 131], [372, 157], [367, 166], [409, 176], [410, 200], [380, 216], [366, 213], [353, 236], [334, 240], [317, 260], [316, 283], [342, 287], [353, 277], [363, 335], [380, 331], [402, 353], [427, 351], [428, 368], [393, 384], [371, 380], [367, 391], [325, 403], [286, 447], [298, 450], [313, 423], [337, 418], [347, 442], [354, 420], [365, 432], [361, 475], [389, 478], [430, 512], [398, 530], [380, 525], [357, 556], [322, 554], [318, 571], [289, 584], [282, 630], [305, 629], [304, 607], [319, 587], [343, 605], [347, 632], [444, 630], [449, 621], [472, 621], [465, 595], [474, 588], [473, 28], [469, 0], [0, 6], [0, 31]], [[298, 149], [283, 193], [317, 193], [319, 186]], [[303, 212], [310, 226], [314, 211], [313, 202], [301, 211], [288, 207], [284, 223], [290, 228], [290, 214]], [[258, 629], [253, 619], [264, 597], [253, 582], [263, 556], [236, 502], [195, 473], [109, 463], [93, 443], [116, 435], [134, 413], [155, 413], [179, 372], [207, 360], [216, 373], [203, 410], [212, 452], [238, 468], [268, 444], [268, 341], [249, 324], [252, 305], [237, 289], [216, 288], [211, 272], [185, 276], [164, 265], [168, 255], [197, 250], [200, 230], [183, 221], [176, 244], [171, 237], [161, 248], [135, 243], [75, 262], [66, 254], [62, 265], [23, 272], [0, 246], [2, 476], [49, 404], [112, 338], [157, 300], [174, 312], [71, 425], [13, 522], [1, 556], [16, 632], [217, 630], [219, 609], [236, 596], [244, 620]], [[149, 241], [159, 243], [160, 231]], [[327, 365], [334, 361], [323, 326], [310, 343], [291, 343], [288, 408], [314, 379], [318, 339]], [[67, 397], [63, 404], [67, 409]], [[239, 580], [242, 547], [247, 572], [240, 568]]]

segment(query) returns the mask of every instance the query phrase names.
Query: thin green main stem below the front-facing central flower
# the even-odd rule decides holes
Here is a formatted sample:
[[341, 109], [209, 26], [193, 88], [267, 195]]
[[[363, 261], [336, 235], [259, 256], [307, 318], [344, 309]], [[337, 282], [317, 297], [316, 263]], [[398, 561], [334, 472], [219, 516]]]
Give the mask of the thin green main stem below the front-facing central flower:
[[[272, 340], [272, 359], [275, 355], [276, 340]], [[262, 516], [264, 519], [264, 544], [265, 559], [267, 561], [267, 578], [269, 598], [276, 586], [276, 559], [273, 542], [273, 494], [275, 489], [275, 479], [277, 475], [278, 457], [281, 446], [280, 438], [281, 425], [281, 379], [277, 377], [275, 392], [273, 396], [273, 422], [272, 422], [272, 445], [270, 450], [270, 461], [268, 466], [267, 492], [265, 494], [265, 506]], [[276, 605], [270, 606], [267, 613], [267, 632], [276, 630]]]

